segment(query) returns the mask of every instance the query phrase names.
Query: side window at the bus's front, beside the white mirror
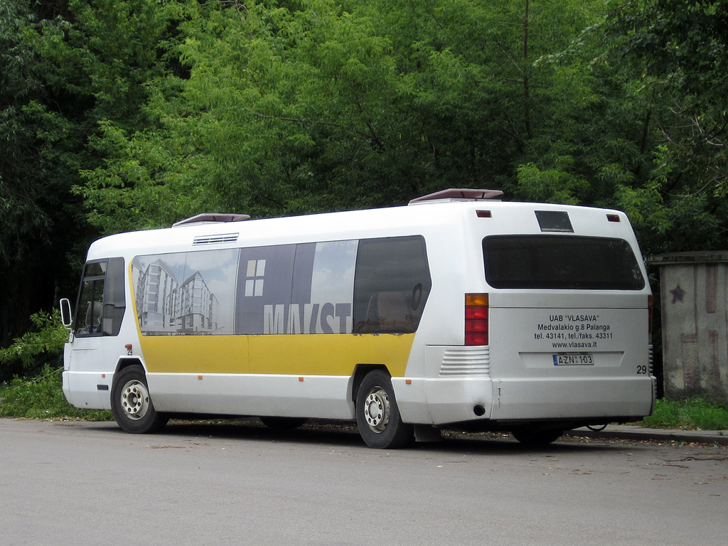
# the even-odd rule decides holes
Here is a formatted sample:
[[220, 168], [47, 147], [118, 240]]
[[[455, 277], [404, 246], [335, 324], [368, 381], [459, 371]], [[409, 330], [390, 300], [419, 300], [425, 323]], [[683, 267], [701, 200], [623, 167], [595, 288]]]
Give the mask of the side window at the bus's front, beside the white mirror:
[[124, 259], [86, 264], [76, 305], [74, 335], [116, 336], [124, 307]]

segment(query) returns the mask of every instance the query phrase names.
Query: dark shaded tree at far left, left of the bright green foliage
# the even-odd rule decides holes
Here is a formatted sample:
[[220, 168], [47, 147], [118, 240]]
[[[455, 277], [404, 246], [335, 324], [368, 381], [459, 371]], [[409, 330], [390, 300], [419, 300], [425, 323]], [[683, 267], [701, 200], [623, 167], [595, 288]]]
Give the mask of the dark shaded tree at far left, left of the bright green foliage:
[[[0, 4], [0, 345], [73, 290], [98, 231], [72, 189], [98, 165], [99, 123], [143, 127], [146, 82], [165, 58], [181, 1], [7, 0]], [[68, 255], [71, 254], [71, 267]]]

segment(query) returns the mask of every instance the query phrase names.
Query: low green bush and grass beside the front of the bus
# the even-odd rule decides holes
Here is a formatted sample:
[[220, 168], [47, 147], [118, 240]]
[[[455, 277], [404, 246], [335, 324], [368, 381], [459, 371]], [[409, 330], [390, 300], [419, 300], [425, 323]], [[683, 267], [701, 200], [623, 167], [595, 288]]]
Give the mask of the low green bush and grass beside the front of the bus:
[[9, 384], [0, 385], [0, 417], [111, 419], [110, 411], [82, 410], [71, 406], [61, 390], [61, 371], [45, 365], [41, 373], [32, 379], [15, 377]]

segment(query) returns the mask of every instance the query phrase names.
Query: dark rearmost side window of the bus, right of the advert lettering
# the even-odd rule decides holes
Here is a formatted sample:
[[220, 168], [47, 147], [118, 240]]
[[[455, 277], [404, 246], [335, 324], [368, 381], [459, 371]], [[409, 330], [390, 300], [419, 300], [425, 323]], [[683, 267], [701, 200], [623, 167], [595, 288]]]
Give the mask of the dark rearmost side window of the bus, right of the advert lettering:
[[416, 331], [431, 285], [422, 237], [360, 240], [354, 333]]

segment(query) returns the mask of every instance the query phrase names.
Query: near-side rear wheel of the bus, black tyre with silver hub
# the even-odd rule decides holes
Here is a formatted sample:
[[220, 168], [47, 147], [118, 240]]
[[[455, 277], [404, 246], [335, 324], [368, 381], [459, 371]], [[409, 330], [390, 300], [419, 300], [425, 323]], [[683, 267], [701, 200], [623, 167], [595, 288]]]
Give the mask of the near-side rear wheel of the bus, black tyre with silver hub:
[[367, 446], [401, 448], [414, 440], [414, 426], [400, 417], [392, 380], [382, 370], [367, 373], [357, 391], [357, 426]]

